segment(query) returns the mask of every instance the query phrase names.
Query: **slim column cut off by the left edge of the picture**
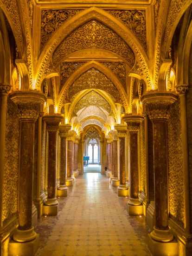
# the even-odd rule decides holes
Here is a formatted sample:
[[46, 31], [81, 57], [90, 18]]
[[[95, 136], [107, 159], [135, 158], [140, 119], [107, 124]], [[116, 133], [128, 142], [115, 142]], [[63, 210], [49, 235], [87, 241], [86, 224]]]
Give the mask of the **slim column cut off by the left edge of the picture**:
[[[0, 195], [2, 195], [3, 189], [7, 95], [10, 89], [10, 85], [0, 84]], [[0, 222], [2, 222], [2, 196], [0, 196]], [[0, 227], [2, 227], [2, 223], [0, 223]]]

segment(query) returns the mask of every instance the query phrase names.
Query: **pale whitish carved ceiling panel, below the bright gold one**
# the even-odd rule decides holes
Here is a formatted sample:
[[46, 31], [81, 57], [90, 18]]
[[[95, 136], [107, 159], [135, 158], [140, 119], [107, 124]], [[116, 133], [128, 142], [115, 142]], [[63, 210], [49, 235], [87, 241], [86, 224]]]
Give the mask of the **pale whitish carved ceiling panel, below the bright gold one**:
[[107, 120], [107, 115], [97, 106], [88, 106], [87, 108], [84, 108], [83, 111], [77, 113], [77, 118], [78, 121], [81, 122], [84, 118], [94, 115], [100, 117], [102, 120]]

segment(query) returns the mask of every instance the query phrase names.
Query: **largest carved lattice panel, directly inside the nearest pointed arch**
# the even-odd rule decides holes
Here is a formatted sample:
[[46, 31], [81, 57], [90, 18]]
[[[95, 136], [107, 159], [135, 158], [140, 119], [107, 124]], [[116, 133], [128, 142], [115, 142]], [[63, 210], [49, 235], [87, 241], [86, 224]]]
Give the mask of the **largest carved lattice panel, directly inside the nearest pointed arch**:
[[53, 53], [56, 65], [70, 53], [82, 49], [99, 48], [119, 54], [131, 67], [134, 66], [134, 52], [113, 30], [97, 20], [90, 20], [66, 37]]

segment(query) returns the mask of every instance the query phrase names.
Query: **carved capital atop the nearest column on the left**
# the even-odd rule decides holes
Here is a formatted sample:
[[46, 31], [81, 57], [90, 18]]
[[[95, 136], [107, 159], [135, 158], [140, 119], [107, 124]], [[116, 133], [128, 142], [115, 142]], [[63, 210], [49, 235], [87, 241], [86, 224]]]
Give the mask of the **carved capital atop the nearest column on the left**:
[[45, 94], [37, 91], [15, 91], [10, 94], [11, 100], [17, 104], [19, 119], [36, 121], [46, 101]]

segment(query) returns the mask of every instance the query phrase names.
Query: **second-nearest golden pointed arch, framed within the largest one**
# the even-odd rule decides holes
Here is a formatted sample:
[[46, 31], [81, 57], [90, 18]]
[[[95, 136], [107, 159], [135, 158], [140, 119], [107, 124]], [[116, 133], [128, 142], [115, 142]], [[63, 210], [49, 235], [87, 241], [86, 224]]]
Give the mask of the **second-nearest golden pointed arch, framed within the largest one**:
[[82, 67], [79, 67], [65, 82], [65, 86], [62, 88], [60, 94], [59, 94], [59, 100], [58, 100], [58, 109], [61, 109], [62, 102], [64, 101], [64, 98], [66, 97], [67, 90], [69, 87], [73, 84], [74, 81], [76, 81], [84, 72], [88, 71], [90, 68], [96, 68], [100, 72], [102, 72], [110, 81], [113, 82], [115, 87], [120, 92], [120, 96], [124, 105], [124, 108], [126, 111], [128, 111], [128, 101], [127, 101], [127, 94], [125, 92], [125, 89], [123, 88], [121, 82], [117, 78], [117, 76], [108, 68], [103, 66], [101, 63], [96, 61], [90, 61], [88, 63], [85, 63]]

